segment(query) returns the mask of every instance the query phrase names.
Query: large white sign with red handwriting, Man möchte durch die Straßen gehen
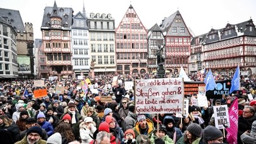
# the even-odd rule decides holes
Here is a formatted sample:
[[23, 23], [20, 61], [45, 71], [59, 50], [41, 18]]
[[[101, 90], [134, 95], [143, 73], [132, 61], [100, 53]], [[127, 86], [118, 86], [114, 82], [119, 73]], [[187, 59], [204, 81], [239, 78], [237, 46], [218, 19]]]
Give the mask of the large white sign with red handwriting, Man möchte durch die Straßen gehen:
[[135, 113], [183, 112], [181, 78], [135, 80]]

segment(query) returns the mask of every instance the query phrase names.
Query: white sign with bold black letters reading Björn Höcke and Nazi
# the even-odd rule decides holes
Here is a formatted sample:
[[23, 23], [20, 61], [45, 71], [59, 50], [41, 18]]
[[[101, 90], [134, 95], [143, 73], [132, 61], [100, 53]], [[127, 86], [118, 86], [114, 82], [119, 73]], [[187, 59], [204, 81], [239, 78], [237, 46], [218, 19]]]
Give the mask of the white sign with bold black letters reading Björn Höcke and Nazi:
[[228, 106], [220, 105], [220, 106], [214, 106], [214, 120], [215, 120], [215, 126], [216, 128], [223, 129], [224, 126], [230, 125], [229, 123], [229, 114], [228, 114]]

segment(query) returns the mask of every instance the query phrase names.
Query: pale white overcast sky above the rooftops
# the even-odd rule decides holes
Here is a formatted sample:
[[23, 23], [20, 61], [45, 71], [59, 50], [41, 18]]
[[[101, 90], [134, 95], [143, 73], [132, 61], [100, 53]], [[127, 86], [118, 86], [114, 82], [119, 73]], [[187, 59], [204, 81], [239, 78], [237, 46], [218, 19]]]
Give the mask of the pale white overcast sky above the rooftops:
[[[227, 23], [241, 23], [250, 18], [256, 21], [255, 0], [56, 0], [56, 4], [58, 7], [73, 8], [75, 15], [78, 11], [83, 11], [83, 1], [87, 14], [110, 13], [115, 19], [116, 27], [130, 4], [147, 29], [155, 23], [159, 25], [164, 17], [177, 10], [195, 35], [207, 33], [211, 28], [224, 28]], [[0, 8], [20, 11], [23, 24], [33, 24], [34, 38], [42, 38], [40, 26], [44, 8], [52, 7], [54, 0], [0, 0], [0, 3]]]

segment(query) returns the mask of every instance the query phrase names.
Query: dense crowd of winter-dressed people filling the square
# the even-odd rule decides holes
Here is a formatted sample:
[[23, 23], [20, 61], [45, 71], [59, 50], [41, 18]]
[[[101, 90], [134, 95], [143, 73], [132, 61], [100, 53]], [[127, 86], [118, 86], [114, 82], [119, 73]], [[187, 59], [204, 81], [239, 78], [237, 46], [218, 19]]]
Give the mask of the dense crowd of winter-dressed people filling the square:
[[[78, 79], [44, 80], [35, 87], [34, 80], [3, 80], [0, 83], [1, 143], [228, 143], [226, 133], [215, 127], [213, 106], [227, 104], [238, 97], [238, 143], [256, 141], [255, 78], [241, 77], [241, 91], [209, 99], [208, 107], [190, 102], [189, 114], [136, 114], [134, 91], [125, 82], [153, 79], [154, 75], [97, 75], [89, 79], [87, 90]], [[189, 75], [197, 79], [196, 75]], [[56, 94], [56, 87], [64, 91]], [[47, 96], [35, 97], [34, 91], [47, 89]], [[110, 96], [111, 101], [102, 102]], [[186, 97], [190, 101], [197, 94]]]

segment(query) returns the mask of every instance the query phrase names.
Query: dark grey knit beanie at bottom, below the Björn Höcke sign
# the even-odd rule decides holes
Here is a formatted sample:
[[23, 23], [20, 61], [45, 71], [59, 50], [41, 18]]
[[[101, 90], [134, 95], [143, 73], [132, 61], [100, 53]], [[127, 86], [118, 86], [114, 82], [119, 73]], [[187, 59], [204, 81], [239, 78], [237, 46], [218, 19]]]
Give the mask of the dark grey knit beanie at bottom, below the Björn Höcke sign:
[[216, 140], [217, 138], [220, 138], [223, 136], [221, 130], [217, 129], [215, 126], [208, 125], [204, 129], [203, 137], [206, 141], [209, 140]]

